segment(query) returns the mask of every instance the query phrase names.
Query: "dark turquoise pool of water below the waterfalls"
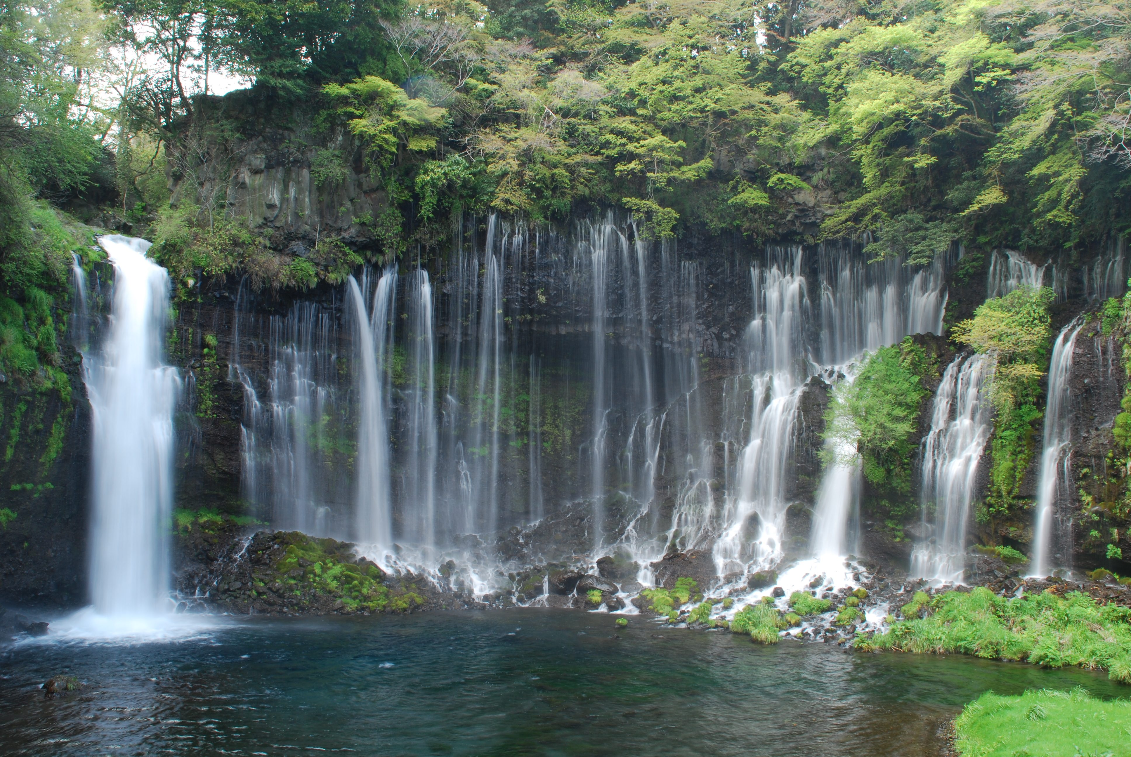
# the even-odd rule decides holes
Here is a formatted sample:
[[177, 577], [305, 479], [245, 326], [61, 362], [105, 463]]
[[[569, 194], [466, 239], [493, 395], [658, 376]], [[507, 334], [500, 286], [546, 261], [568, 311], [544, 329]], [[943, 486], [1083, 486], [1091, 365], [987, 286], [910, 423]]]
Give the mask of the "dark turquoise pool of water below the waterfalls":
[[[0, 754], [907, 755], [982, 691], [1105, 676], [860, 654], [524, 609], [245, 618], [132, 646], [0, 652]], [[38, 686], [77, 676], [81, 691]]]

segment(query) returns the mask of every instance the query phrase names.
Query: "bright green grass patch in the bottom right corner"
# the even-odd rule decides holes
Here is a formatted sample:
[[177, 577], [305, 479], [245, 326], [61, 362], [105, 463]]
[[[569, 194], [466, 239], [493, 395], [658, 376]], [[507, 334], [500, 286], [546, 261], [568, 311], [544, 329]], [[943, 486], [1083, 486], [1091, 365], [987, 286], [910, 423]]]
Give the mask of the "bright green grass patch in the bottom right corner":
[[1030, 690], [1020, 696], [987, 691], [955, 722], [962, 757], [1126, 755], [1131, 703], [1104, 702], [1077, 688]]

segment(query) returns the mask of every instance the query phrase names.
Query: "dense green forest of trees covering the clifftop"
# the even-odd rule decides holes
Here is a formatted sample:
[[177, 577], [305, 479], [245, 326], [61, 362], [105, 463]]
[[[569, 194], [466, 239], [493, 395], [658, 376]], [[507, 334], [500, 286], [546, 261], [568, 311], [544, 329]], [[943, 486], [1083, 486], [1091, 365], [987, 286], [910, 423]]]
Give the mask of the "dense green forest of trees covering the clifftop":
[[[388, 257], [439, 247], [459, 210], [611, 205], [655, 236], [756, 242], [869, 232], [871, 257], [920, 263], [956, 241], [1082, 250], [1129, 217], [1120, 2], [60, 0], [5, 3], [0, 35], [16, 290], [64, 270], [32, 221], [44, 200], [154, 224], [173, 267], [174, 247], [238, 266], [223, 250], [247, 224], [225, 225], [223, 192], [170, 205], [167, 177], [208, 160], [191, 147], [238, 128], [199, 117], [209, 77], [352, 137], [390, 198], [371, 221]], [[311, 175], [355, 157], [319, 148]], [[789, 224], [797, 208], [815, 222]]]

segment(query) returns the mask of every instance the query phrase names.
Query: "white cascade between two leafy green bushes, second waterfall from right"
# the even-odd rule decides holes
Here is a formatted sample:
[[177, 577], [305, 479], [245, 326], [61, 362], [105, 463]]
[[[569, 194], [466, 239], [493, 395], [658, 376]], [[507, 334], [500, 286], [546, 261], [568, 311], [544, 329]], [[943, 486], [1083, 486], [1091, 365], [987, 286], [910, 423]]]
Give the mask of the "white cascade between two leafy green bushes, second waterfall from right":
[[959, 356], [942, 375], [923, 441], [923, 525], [926, 530], [926, 506], [933, 504], [934, 537], [915, 545], [912, 577], [962, 580], [974, 480], [991, 428], [991, 405], [982, 392], [993, 369], [990, 356]]

